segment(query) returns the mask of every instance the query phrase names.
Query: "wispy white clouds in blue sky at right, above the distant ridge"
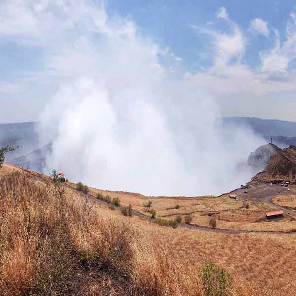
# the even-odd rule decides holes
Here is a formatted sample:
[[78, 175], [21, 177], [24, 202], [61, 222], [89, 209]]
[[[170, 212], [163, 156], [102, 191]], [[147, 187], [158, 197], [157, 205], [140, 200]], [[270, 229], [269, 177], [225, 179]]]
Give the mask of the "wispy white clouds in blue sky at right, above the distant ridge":
[[[199, 33], [211, 35], [211, 47], [216, 50], [211, 67], [202, 72], [186, 74], [190, 89], [206, 89], [217, 99], [226, 116], [257, 115], [270, 118], [272, 113], [275, 118], [287, 116], [295, 120], [289, 111], [279, 111], [278, 107], [273, 109], [273, 106], [277, 106], [274, 102], [277, 96], [290, 98], [296, 91], [296, 71], [289, 71], [291, 61], [296, 58], [295, 14], [291, 13], [287, 22], [289, 38], [287, 36], [287, 40], [281, 44], [279, 31], [273, 30], [275, 44], [272, 49], [260, 52], [261, 64], [255, 69], [243, 62], [247, 50], [245, 44], [252, 40], [245, 40], [244, 32], [231, 20], [226, 9], [220, 9], [217, 15], [228, 22], [230, 33], [191, 26]], [[267, 34], [265, 29], [263, 26], [261, 31]], [[272, 98], [271, 102], [269, 98]], [[269, 108], [266, 110], [258, 106]]]

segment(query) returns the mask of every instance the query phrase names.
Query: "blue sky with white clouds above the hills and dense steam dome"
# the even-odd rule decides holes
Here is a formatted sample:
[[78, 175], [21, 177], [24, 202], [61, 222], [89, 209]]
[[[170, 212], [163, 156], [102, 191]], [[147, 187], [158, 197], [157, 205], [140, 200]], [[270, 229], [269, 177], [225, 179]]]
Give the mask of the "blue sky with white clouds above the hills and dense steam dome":
[[[152, 51], [153, 60], [143, 58], [142, 67], [202, 90], [222, 116], [296, 121], [295, 5], [292, 0], [1, 0], [0, 122], [39, 120], [63, 83], [104, 72], [94, 67], [93, 57], [104, 59], [99, 44], [114, 30], [148, 44], [139, 50]], [[128, 75], [124, 69], [119, 74]]]

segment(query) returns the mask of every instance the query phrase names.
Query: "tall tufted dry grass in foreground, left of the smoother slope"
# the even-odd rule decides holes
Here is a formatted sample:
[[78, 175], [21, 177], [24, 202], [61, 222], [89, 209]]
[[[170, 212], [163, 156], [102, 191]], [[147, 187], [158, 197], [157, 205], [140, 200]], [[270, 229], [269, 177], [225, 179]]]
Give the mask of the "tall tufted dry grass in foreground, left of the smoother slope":
[[205, 279], [205, 270], [173, 256], [167, 244], [148, 240], [128, 222], [103, 220], [59, 183], [7, 175], [0, 206], [0, 295], [71, 295], [81, 266], [124, 277], [128, 295], [280, 295], [235, 281], [225, 286], [209, 271]]

